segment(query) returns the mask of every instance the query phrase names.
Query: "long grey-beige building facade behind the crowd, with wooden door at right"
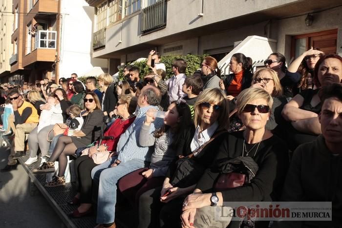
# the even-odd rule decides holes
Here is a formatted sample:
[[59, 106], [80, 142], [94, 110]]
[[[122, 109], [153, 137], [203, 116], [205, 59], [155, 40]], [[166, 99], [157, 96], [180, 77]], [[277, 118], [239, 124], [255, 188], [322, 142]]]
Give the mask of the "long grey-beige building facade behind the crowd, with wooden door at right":
[[[221, 60], [237, 41], [276, 42], [287, 61], [310, 48], [342, 54], [341, 0], [87, 0], [94, 7], [93, 57], [116, 66], [162, 55], [210, 54]], [[267, 58], [270, 53], [261, 53]]]

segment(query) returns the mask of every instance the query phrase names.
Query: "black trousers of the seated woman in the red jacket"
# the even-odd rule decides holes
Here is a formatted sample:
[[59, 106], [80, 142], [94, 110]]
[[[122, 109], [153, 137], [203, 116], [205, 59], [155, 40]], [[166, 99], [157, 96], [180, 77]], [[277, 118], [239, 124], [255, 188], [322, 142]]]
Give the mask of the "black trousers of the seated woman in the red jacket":
[[78, 192], [81, 194], [81, 204], [91, 204], [92, 179], [91, 169], [97, 166], [92, 158], [84, 155], [75, 161], [75, 173], [78, 180]]

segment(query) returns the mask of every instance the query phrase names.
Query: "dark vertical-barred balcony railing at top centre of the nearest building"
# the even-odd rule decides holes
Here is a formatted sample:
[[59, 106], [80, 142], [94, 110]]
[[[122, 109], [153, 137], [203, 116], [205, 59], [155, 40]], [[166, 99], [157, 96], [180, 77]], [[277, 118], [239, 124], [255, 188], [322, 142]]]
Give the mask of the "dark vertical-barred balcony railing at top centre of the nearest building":
[[145, 34], [166, 26], [167, 0], [141, 9], [141, 33]]

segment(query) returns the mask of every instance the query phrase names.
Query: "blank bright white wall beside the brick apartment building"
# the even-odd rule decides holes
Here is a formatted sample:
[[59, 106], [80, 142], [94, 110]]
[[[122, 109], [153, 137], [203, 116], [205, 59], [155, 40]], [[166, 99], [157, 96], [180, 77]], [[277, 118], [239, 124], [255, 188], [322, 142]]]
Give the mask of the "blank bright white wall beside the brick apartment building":
[[94, 8], [85, 0], [61, 1], [63, 20], [59, 76], [68, 78], [75, 72], [82, 77], [93, 67], [101, 67], [107, 72], [107, 60], [91, 56]]

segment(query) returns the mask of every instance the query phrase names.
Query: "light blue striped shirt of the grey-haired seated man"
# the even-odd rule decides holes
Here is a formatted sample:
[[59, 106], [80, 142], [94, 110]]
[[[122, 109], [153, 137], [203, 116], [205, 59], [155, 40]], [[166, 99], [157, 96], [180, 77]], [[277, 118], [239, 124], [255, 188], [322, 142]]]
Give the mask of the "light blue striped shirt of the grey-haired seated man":
[[[128, 127], [128, 129], [120, 136], [117, 152], [118, 160], [121, 162], [127, 162], [133, 159], [139, 159], [142, 161], [150, 162], [151, 156], [154, 151], [153, 144], [150, 146], [140, 146], [139, 145], [139, 135], [141, 126], [146, 119], [146, 112], [150, 108], [155, 108], [159, 110], [157, 106], [146, 106], [142, 108], [137, 108], [135, 111], [136, 119]], [[160, 128], [164, 124], [164, 120], [161, 118], [156, 118], [150, 125], [149, 133], [152, 133], [155, 129]]]

